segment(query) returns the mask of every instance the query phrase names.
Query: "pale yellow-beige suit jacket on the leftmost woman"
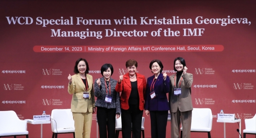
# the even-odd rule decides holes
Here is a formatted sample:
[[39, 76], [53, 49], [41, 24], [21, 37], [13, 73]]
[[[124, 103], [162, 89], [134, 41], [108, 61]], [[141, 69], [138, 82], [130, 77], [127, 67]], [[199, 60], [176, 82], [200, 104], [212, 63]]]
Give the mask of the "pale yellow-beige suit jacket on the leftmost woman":
[[87, 110], [92, 113], [94, 107], [94, 89], [93, 89], [93, 79], [92, 76], [86, 74], [88, 82], [88, 92], [89, 98], [83, 98], [83, 93], [85, 91], [85, 85], [79, 74], [72, 76], [72, 84], [68, 84], [68, 93], [73, 94], [71, 101], [71, 112], [76, 113], [86, 113]]

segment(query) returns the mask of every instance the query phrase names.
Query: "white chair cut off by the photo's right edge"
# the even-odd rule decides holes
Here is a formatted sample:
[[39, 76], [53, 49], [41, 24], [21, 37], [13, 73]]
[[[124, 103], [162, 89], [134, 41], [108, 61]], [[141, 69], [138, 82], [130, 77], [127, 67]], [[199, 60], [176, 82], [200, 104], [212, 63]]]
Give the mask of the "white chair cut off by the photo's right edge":
[[243, 130], [244, 138], [246, 138], [246, 134], [254, 134], [256, 135], [256, 114], [252, 119], [244, 119], [245, 129]]

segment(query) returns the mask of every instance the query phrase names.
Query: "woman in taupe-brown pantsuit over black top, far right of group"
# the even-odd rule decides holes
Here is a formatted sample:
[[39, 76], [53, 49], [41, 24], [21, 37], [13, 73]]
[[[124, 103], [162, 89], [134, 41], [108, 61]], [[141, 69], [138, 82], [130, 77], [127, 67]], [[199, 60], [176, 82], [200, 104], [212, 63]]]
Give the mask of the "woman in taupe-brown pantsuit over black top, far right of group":
[[180, 138], [180, 121], [182, 123], [182, 138], [190, 138], [192, 119], [191, 86], [193, 75], [187, 73], [188, 68], [184, 58], [174, 60], [174, 70], [170, 76], [171, 91], [169, 101], [171, 107], [171, 137]]

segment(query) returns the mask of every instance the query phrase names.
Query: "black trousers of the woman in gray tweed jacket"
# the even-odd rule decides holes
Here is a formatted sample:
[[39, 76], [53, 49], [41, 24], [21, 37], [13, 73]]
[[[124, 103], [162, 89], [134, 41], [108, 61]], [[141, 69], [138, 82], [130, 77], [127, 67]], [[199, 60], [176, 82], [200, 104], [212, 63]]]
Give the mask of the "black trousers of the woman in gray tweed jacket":
[[107, 136], [108, 138], [115, 138], [116, 109], [97, 107], [97, 119], [99, 125], [100, 138], [107, 138]]

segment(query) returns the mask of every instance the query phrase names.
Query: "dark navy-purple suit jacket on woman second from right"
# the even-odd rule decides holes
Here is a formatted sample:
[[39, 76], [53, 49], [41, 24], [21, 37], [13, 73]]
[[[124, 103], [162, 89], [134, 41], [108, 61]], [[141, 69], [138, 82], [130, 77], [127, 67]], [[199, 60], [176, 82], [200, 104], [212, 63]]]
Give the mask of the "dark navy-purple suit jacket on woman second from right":
[[156, 97], [151, 99], [150, 97], [150, 87], [155, 78], [155, 75], [148, 78], [147, 86], [146, 86], [146, 101], [145, 101], [145, 110], [149, 111], [168, 111], [170, 110], [170, 106], [168, 104], [168, 99], [166, 93], [170, 91], [170, 78], [167, 76], [164, 81], [163, 74], [160, 73], [156, 83], [154, 85], [154, 91], [156, 93]]

